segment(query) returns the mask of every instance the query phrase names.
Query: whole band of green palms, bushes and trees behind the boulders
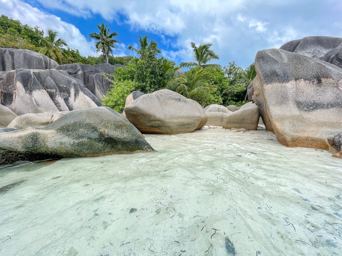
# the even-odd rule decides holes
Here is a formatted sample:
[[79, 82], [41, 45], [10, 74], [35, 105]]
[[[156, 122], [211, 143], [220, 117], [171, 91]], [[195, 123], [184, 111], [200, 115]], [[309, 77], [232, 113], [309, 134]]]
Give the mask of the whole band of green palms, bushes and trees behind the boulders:
[[[254, 64], [245, 70], [234, 61], [221, 67], [212, 63], [219, 56], [211, 49], [211, 43], [196, 45], [191, 43], [193, 61], [181, 62], [161, 57], [156, 41], [148, 36], [138, 35], [138, 47], [129, 44], [127, 49], [137, 56], [113, 56], [113, 50], [119, 43], [118, 33], [111, 32], [104, 23], [96, 25], [98, 32], [90, 37], [95, 40], [96, 52], [101, 55], [81, 56], [78, 49], [67, 47], [67, 43], [58, 38], [57, 32], [48, 31], [45, 36], [39, 27], [31, 28], [4, 15], [0, 16], [0, 47], [29, 49], [41, 52], [62, 64], [81, 63], [95, 65], [100, 63], [120, 64], [116, 68], [111, 86], [102, 103], [121, 112], [126, 97], [133, 91], [143, 93], [168, 88], [183, 96], [196, 100], [203, 106], [210, 104], [241, 105], [245, 103], [246, 88], [253, 81], [256, 72]], [[67, 47], [66, 49], [64, 47]], [[183, 71], [181, 67], [188, 69]], [[112, 76], [108, 76], [112, 77]]]

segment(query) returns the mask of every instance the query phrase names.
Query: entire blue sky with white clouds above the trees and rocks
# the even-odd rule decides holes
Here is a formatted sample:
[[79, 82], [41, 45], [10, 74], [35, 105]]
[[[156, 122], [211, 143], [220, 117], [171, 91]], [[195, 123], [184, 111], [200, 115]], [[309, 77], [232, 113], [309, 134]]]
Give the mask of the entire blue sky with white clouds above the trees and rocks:
[[162, 55], [191, 61], [190, 42], [210, 42], [225, 66], [246, 68], [261, 49], [310, 35], [342, 37], [341, 0], [0, 0], [0, 14], [58, 32], [84, 56], [96, 55], [89, 33], [104, 22], [121, 43], [156, 40]]

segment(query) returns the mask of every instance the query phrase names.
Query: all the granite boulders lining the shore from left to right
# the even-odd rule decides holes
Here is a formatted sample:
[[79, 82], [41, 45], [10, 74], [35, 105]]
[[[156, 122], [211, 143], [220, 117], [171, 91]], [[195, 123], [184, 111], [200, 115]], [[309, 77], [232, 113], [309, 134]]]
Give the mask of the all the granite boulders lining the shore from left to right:
[[249, 102], [240, 108], [203, 109], [164, 89], [133, 91], [119, 114], [101, 104], [118, 66], [58, 65], [39, 53], [0, 48], [0, 164], [152, 151], [141, 133], [205, 125], [257, 130], [260, 117], [281, 144], [342, 158], [342, 38], [307, 37], [259, 51]]

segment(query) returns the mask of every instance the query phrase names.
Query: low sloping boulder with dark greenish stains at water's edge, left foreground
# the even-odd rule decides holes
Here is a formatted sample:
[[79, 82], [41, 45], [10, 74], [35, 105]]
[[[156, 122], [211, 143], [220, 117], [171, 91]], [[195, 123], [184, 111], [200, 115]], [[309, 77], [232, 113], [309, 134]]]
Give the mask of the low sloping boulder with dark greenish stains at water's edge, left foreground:
[[0, 134], [0, 164], [152, 151], [140, 132], [107, 107], [70, 111], [50, 125]]

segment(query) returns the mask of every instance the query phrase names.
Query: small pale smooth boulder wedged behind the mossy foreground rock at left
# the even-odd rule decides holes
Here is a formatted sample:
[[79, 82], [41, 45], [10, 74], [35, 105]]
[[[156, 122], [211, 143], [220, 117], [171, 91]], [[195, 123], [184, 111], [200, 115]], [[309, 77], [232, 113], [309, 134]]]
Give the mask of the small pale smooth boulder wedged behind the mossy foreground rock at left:
[[19, 130], [24, 128], [45, 126], [51, 124], [52, 116], [53, 114], [49, 112], [20, 115], [14, 118], [7, 128]]

